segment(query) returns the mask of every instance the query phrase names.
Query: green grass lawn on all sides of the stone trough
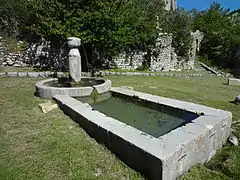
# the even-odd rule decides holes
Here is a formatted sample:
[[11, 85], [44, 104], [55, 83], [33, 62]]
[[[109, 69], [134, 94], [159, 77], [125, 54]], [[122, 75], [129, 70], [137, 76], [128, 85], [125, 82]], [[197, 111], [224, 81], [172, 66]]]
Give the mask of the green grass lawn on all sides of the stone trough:
[[[219, 77], [107, 77], [113, 86], [229, 110], [240, 138], [240, 88]], [[43, 114], [31, 78], [0, 78], [0, 179], [143, 179], [59, 109]], [[182, 179], [240, 179], [240, 147], [226, 144]]]

